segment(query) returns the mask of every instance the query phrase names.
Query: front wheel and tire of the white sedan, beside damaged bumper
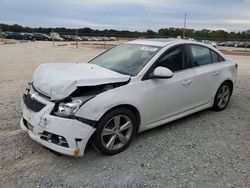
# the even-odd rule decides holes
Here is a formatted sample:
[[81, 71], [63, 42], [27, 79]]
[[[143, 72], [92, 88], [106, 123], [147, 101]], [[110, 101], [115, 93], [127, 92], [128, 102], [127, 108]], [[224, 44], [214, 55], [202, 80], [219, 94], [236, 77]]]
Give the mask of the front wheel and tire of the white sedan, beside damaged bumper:
[[115, 155], [129, 146], [136, 135], [137, 127], [136, 117], [130, 110], [111, 110], [98, 122], [91, 143], [97, 151], [105, 155]]

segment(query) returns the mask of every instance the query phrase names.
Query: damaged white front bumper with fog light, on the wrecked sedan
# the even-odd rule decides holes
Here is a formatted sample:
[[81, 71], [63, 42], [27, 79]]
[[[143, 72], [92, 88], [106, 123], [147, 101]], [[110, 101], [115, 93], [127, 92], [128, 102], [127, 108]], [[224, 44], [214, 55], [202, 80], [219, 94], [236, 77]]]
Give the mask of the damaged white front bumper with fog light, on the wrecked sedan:
[[[29, 89], [28, 95], [44, 107], [34, 109], [29, 105], [32, 101], [21, 99], [23, 116], [20, 126], [29, 136], [43, 146], [58, 153], [70, 156], [83, 156], [86, 144], [95, 128], [75, 119], [61, 118], [51, 115], [55, 103], [48, 101]], [[30, 100], [30, 99], [29, 99]]]

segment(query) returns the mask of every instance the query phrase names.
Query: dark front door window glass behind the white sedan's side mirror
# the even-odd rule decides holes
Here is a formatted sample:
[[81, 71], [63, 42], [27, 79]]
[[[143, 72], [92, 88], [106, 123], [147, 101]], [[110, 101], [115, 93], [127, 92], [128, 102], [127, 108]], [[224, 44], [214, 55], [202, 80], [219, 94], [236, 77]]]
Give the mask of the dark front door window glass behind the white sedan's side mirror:
[[183, 47], [177, 46], [167, 51], [166, 54], [158, 60], [157, 66], [166, 67], [173, 72], [187, 68], [185, 66]]

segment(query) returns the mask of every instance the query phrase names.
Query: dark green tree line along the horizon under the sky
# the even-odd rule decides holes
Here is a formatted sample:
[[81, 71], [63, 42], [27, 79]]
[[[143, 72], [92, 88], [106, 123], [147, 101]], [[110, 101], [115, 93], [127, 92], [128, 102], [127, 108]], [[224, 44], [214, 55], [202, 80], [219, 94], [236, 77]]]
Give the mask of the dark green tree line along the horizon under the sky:
[[[79, 28], [79, 29], [69, 29], [65, 27], [56, 27], [56, 28], [31, 28], [31, 27], [23, 27], [18, 24], [8, 25], [8, 24], [0, 24], [0, 28], [2, 31], [13, 31], [13, 32], [28, 32], [28, 33], [51, 33], [52, 30], [54, 32], [58, 32], [60, 34], [69, 34], [75, 35], [76, 32], [79, 35], [86, 36], [114, 36], [114, 37], [177, 37], [183, 35], [183, 28], [162, 28], [157, 32], [152, 30], [147, 30], [145, 32], [138, 31], [128, 31], [128, 30], [114, 30], [114, 29], [104, 29], [97, 30], [91, 29], [88, 27]], [[227, 32], [224, 30], [195, 30], [195, 29], [186, 29], [186, 36], [189, 38], [195, 39], [210, 39], [210, 40], [248, 40], [250, 39], [250, 29], [245, 31], [238, 32]]]

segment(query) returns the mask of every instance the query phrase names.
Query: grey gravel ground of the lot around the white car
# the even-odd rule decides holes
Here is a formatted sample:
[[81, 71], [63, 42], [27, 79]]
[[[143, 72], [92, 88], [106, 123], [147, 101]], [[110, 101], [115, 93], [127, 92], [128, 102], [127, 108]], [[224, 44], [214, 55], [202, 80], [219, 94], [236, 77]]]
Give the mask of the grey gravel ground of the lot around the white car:
[[226, 110], [205, 110], [137, 136], [104, 156], [58, 156], [20, 130], [20, 95], [40, 63], [85, 62], [103, 49], [48, 42], [0, 46], [0, 187], [250, 187], [250, 57]]

